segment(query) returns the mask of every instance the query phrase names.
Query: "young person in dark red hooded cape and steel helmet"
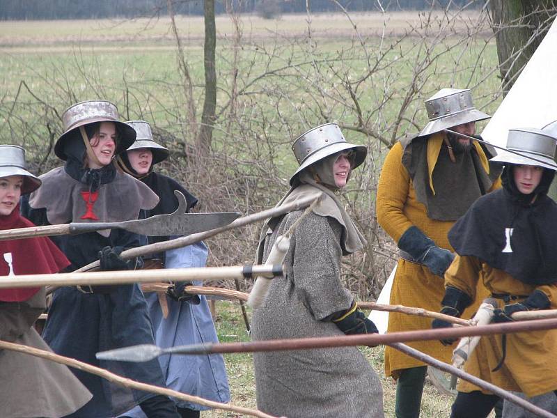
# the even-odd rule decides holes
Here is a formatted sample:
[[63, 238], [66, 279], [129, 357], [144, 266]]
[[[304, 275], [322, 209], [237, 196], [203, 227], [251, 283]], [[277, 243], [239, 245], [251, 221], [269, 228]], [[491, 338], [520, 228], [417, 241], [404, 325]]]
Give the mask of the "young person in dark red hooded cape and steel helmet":
[[[34, 226], [19, 215], [19, 198], [40, 187], [26, 171], [25, 150], [0, 145], [0, 229]], [[45, 237], [0, 241], [0, 275], [47, 274], [70, 262]], [[0, 289], [0, 339], [52, 351], [33, 327], [46, 308], [44, 287]], [[2, 350], [0, 405], [2, 417], [63, 417], [91, 399], [91, 393], [63, 364]]]

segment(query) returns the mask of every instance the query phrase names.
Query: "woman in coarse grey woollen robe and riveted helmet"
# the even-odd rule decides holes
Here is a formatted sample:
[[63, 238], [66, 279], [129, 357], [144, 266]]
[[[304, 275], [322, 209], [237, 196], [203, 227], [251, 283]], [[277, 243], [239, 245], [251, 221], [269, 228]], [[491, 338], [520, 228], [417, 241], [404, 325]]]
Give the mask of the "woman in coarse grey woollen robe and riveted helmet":
[[[322, 192], [320, 203], [269, 219], [262, 230], [257, 263], [276, 238], [298, 219], [282, 277], [272, 280], [262, 305], [253, 311], [253, 340], [292, 339], [377, 332], [340, 280], [340, 258], [365, 240], [335, 192], [362, 164], [365, 146], [348, 144], [338, 125], [327, 123], [296, 139], [299, 168], [277, 206]], [[258, 408], [276, 416], [384, 417], [379, 378], [356, 347], [255, 353]]]

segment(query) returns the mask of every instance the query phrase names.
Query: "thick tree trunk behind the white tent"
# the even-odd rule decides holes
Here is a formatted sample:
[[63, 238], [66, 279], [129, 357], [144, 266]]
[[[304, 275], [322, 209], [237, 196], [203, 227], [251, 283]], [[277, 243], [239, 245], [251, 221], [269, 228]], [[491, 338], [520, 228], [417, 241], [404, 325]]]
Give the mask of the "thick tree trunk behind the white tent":
[[555, 0], [491, 0], [503, 91], [510, 90], [555, 17]]

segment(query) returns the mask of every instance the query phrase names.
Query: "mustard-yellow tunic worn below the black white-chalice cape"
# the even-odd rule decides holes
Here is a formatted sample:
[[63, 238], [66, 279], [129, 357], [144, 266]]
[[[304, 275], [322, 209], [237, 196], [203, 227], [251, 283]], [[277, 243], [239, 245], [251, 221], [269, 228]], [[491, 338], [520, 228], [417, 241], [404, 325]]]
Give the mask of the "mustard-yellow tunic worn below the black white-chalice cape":
[[[476, 257], [457, 256], [445, 273], [446, 285], [460, 288], [472, 297], [476, 294], [478, 281], [495, 294], [530, 295], [538, 289], [549, 297], [551, 309], [557, 308], [557, 284], [524, 284], [503, 270], [480, 262]], [[503, 307], [503, 300], [498, 301], [499, 307]], [[557, 330], [507, 334], [505, 362], [501, 369], [492, 371], [501, 360], [501, 335], [483, 336], [464, 364], [464, 370], [503, 389], [536, 396], [557, 389], [556, 348]], [[457, 389], [460, 392], [482, 390], [489, 393], [463, 380]]]

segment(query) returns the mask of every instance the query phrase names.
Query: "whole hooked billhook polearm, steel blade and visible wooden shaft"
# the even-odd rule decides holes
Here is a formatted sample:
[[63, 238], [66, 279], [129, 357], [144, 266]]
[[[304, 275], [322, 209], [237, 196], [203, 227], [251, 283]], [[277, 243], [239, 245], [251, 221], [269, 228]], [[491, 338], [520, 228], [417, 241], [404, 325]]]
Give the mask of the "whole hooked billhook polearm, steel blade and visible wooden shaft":
[[240, 212], [186, 213], [186, 198], [178, 190], [178, 209], [169, 215], [155, 215], [147, 219], [124, 222], [72, 222], [62, 225], [31, 226], [29, 228], [0, 231], [0, 241], [54, 235], [78, 235], [104, 229], [125, 229], [139, 235], [152, 237], [191, 235], [226, 226], [240, 216]]

